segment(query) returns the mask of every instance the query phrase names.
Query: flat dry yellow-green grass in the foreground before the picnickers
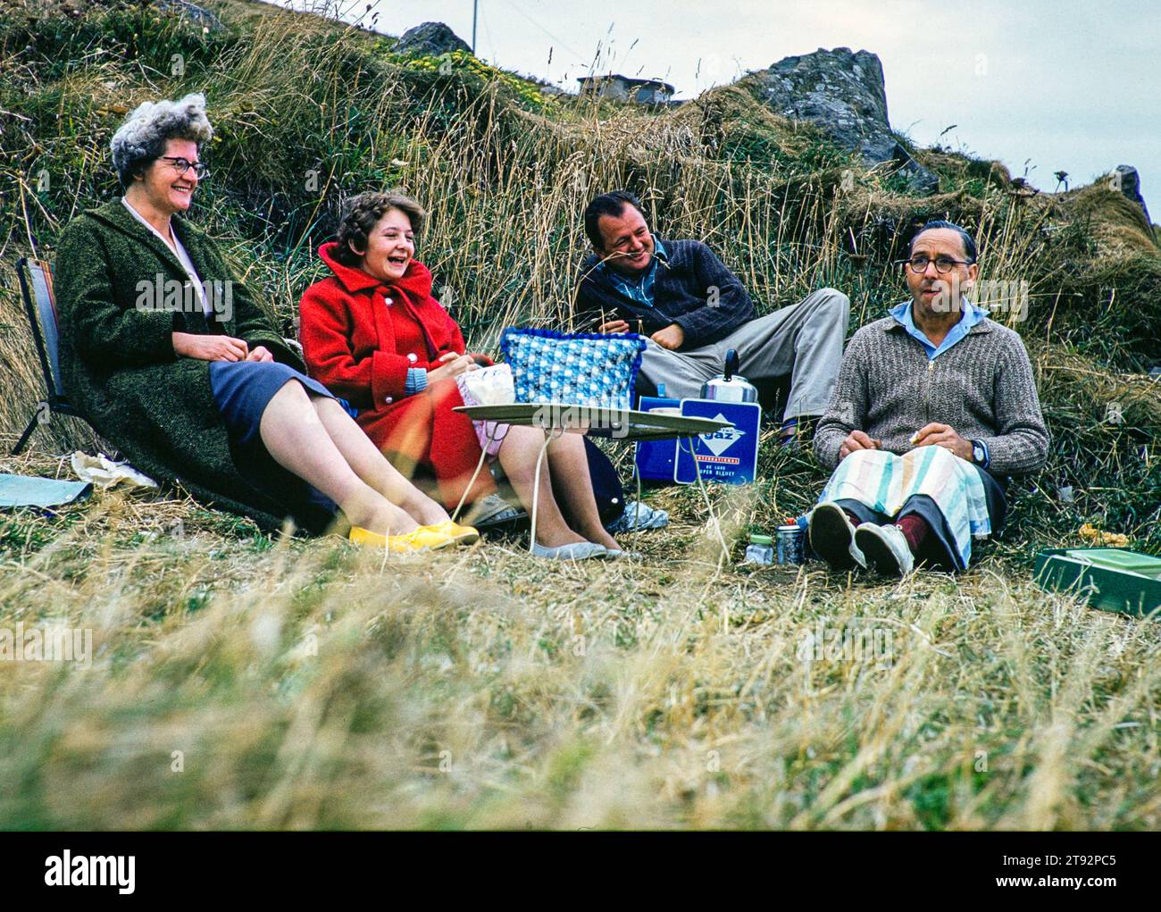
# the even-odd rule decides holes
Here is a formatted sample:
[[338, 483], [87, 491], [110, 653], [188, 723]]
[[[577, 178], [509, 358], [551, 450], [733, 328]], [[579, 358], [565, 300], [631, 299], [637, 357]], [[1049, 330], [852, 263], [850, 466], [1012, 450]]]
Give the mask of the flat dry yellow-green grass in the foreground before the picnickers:
[[[729, 529], [756, 505], [728, 494]], [[7, 520], [5, 623], [94, 658], [0, 662], [0, 826], [1161, 825], [1161, 625], [995, 561], [719, 568], [697, 498], [665, 503], [641, 562], [576, 567], [123, 494]]]

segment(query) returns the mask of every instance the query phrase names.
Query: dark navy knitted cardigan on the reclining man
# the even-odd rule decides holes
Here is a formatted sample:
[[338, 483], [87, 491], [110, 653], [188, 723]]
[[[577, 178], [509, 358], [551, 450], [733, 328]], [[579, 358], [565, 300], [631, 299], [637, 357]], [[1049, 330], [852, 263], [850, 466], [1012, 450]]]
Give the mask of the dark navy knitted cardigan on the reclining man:
[[647, 307], [613, 285], [600, 257], [590, 256], [577, 281], [574, 325], [596, 332], [612, 319], [625, 319], [629, 331], [651, 336], [676, 323], [685, 332], [682, 349], [717, 342], [753, 317], [753, 302], [741, 280], [700, 240], [662, 240], [668, 260], [658, 258], [654, 306]]

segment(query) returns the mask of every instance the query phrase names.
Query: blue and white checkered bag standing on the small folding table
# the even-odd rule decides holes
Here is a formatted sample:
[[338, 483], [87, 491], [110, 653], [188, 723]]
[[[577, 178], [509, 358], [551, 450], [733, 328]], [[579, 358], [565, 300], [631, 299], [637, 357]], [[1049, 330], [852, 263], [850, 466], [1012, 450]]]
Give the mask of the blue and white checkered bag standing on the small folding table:
[[510, 328], [500, 350], [512, 367], [517, 402], [632, 409], [646, 342], [635, 333]]

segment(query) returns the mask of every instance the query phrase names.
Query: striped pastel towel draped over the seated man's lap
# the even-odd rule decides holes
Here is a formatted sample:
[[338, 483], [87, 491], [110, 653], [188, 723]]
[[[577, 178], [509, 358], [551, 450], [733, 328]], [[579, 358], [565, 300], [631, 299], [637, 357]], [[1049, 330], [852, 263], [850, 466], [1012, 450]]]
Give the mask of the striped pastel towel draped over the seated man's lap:
[[819, 503], [850, 498], [877, 512], [895, 516], [907, 498], [916, 494], [925, 494], [936, 502], [966, 567], [972, 556], [972, 537], [991, 534], [991, 520], [980, 473], [950, 450], [920, 446], [903, 455], [885, 450], [856, 450], [838, 464]]

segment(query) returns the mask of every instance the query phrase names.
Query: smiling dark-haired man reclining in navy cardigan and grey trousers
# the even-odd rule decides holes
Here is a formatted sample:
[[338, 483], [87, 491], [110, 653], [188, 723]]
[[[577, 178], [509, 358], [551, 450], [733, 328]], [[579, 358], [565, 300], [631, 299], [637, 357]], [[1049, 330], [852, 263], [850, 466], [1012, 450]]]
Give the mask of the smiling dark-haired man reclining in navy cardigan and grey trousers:
[[738, 278], [700, 240], [662, 240], [627, 191], [594, 199], [584, 213], [593, 246], [580, 268], [574, 325], [590, 332], [640, 332], [644, 392], [697, 396], [736, 349], [747, 380], [791, 376], [784, 440], [800, 418], [822, 415], [843, 357], [850, 300], [822, 288], [755, 318]]

